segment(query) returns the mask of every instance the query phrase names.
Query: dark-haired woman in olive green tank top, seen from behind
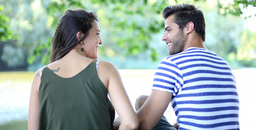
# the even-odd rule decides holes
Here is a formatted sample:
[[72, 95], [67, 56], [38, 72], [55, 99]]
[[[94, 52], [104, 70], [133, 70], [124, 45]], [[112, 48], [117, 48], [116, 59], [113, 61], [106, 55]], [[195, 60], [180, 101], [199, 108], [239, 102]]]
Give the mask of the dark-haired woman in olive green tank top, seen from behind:
[[29, 130], [110, 130], [115, 110], [120, 130], [137, 129], [138, 117], [117, 68], [95, 60], [102, 44], [99, 32], [94, 12], [67, 10], [59, 20], [51, 63], [33, 79]]

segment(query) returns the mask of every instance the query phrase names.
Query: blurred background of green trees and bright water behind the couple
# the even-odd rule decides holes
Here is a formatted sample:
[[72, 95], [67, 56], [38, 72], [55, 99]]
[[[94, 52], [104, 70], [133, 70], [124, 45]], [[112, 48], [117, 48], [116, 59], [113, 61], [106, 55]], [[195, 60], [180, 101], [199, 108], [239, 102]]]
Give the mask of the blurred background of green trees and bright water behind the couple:
[[[150, 94], [154, 69], [168, 55], [161, 41], [161, 11], [179, 3], [194, 4], [203, 11], [205, 45], [233, 69], [241, 129], [252, 130], [256, 0], [0, 0], [0, 130], [27, 130], [33, 75], [49, 63], [51, 40], [67, 9], [97, 13], [103, 41], [98, 59], [116, 65], [134, 104], [140, 94]], [[172, 112], [165, 115], [175, 122]]]

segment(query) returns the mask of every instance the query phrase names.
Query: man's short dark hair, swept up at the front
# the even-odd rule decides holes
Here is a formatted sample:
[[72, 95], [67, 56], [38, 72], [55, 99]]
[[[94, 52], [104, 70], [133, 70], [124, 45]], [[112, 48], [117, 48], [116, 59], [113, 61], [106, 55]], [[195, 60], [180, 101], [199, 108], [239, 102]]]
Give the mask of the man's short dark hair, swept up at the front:
[[189, 22], [194, 23], [195, 31], [205, 41], [205, 21], [201, 10], [185, 3], [165, 7], [162, 12], [164, 19], [166, 20], [171, 15], [174, 15], [173, 22], [179, 25], [180, 29], [183, 29]]

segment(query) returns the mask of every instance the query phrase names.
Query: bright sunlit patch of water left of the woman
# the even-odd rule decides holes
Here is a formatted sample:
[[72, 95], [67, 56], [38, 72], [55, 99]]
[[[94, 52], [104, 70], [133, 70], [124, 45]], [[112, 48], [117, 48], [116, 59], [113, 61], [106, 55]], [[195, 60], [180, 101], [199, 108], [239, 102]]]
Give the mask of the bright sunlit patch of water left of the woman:
[[26, 120], [34, 72], [0, 72], [0, 124]]

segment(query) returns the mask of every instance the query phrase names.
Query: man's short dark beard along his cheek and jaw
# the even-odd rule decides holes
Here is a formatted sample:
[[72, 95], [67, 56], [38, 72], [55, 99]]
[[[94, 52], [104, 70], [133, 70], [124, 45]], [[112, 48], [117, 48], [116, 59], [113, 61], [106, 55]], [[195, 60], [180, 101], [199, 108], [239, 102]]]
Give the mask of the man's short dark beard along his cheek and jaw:
[[186, 36], [184, 35], [183, 31], [179, 29], [179, 32], [176, 36], [174, 36], [171, 42], [171, 48], [168, 51], [169, 55], [174, 55], [180, 52], [183, 52], [185, 44], [187, 42]]

